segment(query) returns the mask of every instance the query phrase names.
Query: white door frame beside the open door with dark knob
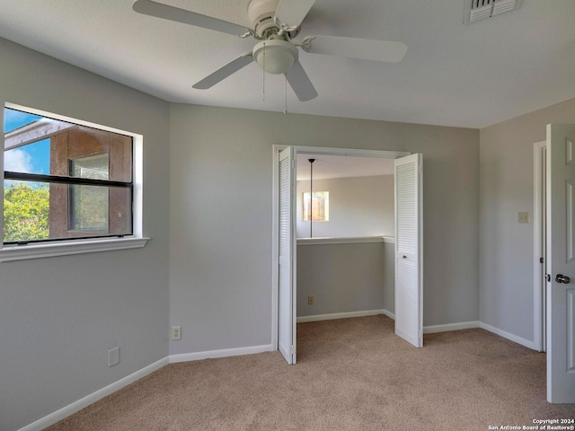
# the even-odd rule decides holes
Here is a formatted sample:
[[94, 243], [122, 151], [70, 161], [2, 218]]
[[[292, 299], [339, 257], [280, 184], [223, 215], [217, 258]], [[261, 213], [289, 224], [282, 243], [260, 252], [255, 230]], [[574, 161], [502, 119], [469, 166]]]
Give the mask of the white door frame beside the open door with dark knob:
[[[542, 280], [545, 275], [547, 262], [543, 266], [539, 263], [544, 250], [543, 237], [547, 233], [543, 227], [543, 208], [545, 202], [546, 175], [544, 170], [544, 158], [542, 150], [547, 147], [547, 141], [536, 142], [533, 145], [533, 308], [534, 308], [534, 328], [533, 344], [535, 350], [543, 352], [545, 350], [545, 328], [546, 328], [546, 298], [543, 295]], [[546, 251], [544, 251], [546, 253]]]

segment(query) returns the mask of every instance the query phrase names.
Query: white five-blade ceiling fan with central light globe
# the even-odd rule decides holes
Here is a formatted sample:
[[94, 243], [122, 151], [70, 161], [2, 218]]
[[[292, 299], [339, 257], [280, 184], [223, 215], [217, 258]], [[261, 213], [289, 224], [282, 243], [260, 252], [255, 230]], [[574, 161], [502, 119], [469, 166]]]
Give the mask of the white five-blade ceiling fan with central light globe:
[[236, 57], [192, 86], [200, 90], [211, 88], [256, 61], [270, 74], [285, 74], [297, 98], [300, 101], [309, 101], [317, 96], [317, 92], [298, 60], [298, 47], [312, 54], [391, 63], [396, 63], [405, 56], [407, 46], [403, 42], [334, 36], [307, 36], [301, 42], [296, 42], [294, 38], [300, 31], [301, 22], [314, 3], [315, 0], [251, 0], [248, 4], [248, 16], [253, 29], [152, 0], [137, 0], [132, 8], [137, 13], [259, 40], [252, 51]]

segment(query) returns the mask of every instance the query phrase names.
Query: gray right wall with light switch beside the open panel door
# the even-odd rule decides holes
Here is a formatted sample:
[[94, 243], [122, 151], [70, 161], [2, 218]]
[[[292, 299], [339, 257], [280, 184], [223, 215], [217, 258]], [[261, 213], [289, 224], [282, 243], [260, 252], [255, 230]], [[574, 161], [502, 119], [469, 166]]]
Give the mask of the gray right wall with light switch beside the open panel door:
[[[533, 145], [548, 123], [575, 123], [575, 99], [480, 131], [480, 319], [534, 340]], [[533, 217], [532, 217], [533, 218]]]

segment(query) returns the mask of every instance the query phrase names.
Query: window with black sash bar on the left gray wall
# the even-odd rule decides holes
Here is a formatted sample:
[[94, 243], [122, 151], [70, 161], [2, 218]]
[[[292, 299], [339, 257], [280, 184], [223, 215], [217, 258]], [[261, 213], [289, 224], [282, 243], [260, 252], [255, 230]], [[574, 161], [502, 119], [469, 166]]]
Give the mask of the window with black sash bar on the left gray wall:
[[4, 245], [132, 235], [133, 140], [4, 108]]

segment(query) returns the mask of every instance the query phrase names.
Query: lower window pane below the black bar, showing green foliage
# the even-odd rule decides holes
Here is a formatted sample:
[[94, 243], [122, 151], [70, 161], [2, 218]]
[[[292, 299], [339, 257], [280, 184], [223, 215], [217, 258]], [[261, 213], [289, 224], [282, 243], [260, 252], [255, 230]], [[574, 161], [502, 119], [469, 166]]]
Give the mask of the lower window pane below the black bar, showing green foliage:
[[131, 203], [130, 188], [4, 180], [4, 242], [129, 235]]

